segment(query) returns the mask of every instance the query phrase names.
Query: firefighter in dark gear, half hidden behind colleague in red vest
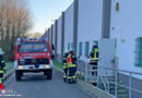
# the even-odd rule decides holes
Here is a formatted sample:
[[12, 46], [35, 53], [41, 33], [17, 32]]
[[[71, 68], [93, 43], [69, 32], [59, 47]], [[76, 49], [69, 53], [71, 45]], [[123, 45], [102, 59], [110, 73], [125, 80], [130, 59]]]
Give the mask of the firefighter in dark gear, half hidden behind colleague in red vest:
[[67, 82], [67, 73], [68, 73], [68, 63], [67, 63], [67, 58], [68, 58], [69, 52], [66, 51], [64, 56], [63, 56], [63, 81]]

